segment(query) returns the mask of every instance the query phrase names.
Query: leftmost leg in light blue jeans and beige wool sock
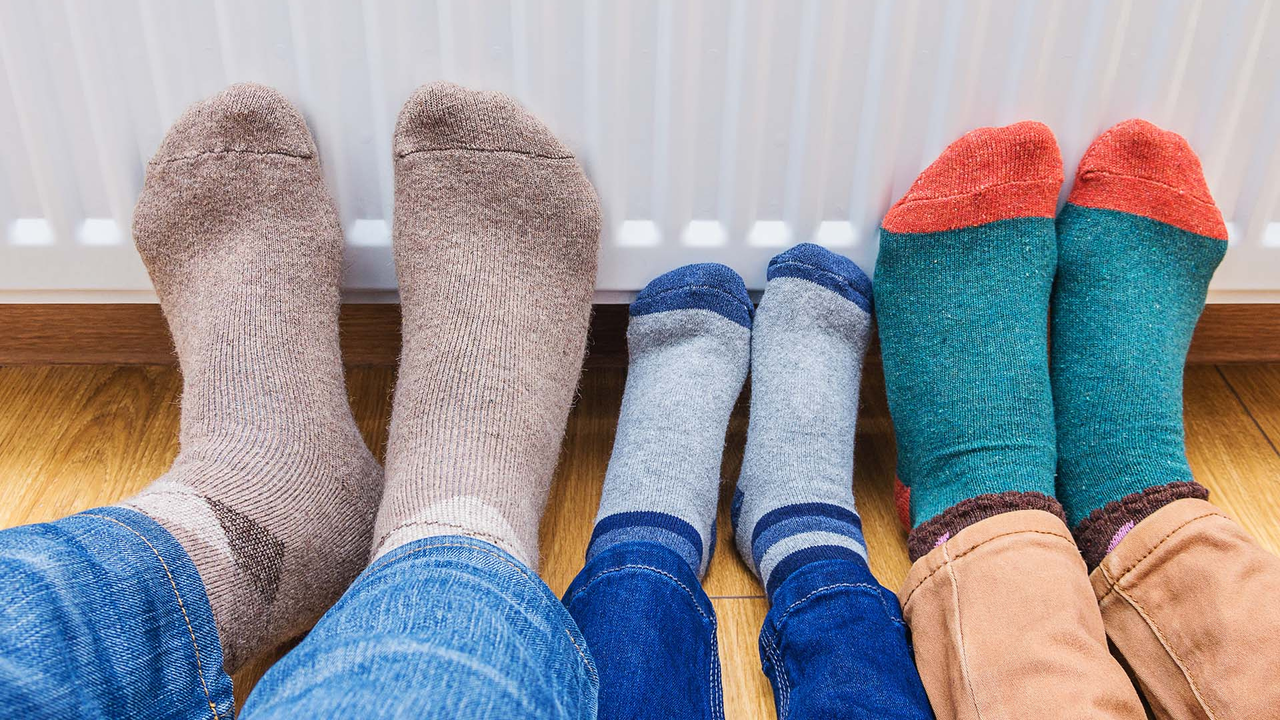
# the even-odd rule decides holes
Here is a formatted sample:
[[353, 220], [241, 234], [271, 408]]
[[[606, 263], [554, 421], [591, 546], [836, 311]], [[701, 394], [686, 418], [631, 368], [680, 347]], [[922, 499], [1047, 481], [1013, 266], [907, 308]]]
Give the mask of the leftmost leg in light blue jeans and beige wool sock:
[[133, 234], [182, 364], [182, 450], [122, 507], [3, 534], [24, 630], [0, 641], [0, 694], [50, 698], [22, 715], [230, 717], [227, 673], [367, 559], [381, 469], [347, 406], [342, 234], [302, 117], [253, 85], [189, 108]]

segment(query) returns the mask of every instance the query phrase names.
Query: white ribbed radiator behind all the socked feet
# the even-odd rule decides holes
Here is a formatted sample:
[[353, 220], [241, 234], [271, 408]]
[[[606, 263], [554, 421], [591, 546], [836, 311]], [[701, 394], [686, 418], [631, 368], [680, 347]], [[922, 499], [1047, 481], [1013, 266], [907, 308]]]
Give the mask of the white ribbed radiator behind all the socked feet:
[[452, 79], [521, 99], [605, 206], [602, 301], [801, 241], [870, 269], [878, 220], [964, 131], [1038, 119], [1070, 177], [1107, 126], [1185, 135], [1230, 223], [1219, 301], [1280, 301], [1280, 1], [0, 0], [0, 300], [150, 300], [143, 164], [243, 79], [303, 110], [352, 299], [394, 297], [396, 113]]

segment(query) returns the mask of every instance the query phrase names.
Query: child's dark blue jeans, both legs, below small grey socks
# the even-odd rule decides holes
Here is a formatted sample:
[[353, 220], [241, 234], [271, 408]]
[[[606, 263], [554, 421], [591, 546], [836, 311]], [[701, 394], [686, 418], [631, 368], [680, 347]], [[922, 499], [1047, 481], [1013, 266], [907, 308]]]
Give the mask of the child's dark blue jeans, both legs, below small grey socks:
[[[600, 717], [724, 716], [716, 612], [663, 546], [595, 556], [564, 593], [595, 659]], [[826, 560], [777, 589], [760, 659], [780, 720], [931, 719], [897, 598], [865, 562]]]

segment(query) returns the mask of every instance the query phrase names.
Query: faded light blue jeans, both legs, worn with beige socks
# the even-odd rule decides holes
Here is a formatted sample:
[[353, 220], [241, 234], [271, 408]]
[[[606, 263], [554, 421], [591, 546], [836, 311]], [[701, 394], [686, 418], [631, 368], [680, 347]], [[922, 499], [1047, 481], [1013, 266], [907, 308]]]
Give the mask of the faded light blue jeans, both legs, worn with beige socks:
[[[243, 717], [591, 719], [599, 680], [573, 619], [497, 547], [436, 537], [366, 569], [275, 664]], [[6, 717], [230, 720], [200, 574], [116, 507], [0, 532]]]

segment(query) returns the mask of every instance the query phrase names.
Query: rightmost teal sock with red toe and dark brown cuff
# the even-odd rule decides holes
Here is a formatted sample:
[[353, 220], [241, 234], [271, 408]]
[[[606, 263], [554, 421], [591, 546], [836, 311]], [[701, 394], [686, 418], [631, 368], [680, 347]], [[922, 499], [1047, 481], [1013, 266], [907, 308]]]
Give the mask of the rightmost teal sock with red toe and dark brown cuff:
[[1187, 465], [1183, 365], [1226, 225], [1187, 141], [1128, 120], [1080, 160], [1057, 242], [1057, 496], [1093, 568], [1147, 515], [1208, 496]]

